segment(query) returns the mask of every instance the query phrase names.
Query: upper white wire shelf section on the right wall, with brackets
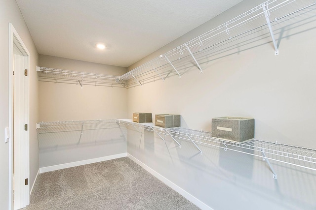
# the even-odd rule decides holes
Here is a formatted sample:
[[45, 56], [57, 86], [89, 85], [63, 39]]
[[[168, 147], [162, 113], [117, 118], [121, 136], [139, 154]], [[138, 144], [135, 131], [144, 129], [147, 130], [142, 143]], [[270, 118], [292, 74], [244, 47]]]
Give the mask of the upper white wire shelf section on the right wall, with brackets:
[[209, 57], [208, 55], [211, 55], [219, 45], [223, 43], [227, 45], [242, 34], [259, 29], [270, 31], [275, 46], [275, 55], [278, 55], [272, 26], [294, 13], [300, 15], [299, 11], [315, 4], [315, 0], [267, 0], [226, 23], [136, 67], [120, 76], [120, 79], [134, 80], [135, 82], [132, 84], [142, 85], [140, 79], [145, 80], [149, 74], [155, 73], [160, 79], [164, 80], [168, 76], [164, 72], [170, 70], [181, 78], [178, 67], [181, 67], [181, 63], [188, 62], [195, 63], [197, 69], [202, 73], [203, 70], [198, 63], [199, 60]]

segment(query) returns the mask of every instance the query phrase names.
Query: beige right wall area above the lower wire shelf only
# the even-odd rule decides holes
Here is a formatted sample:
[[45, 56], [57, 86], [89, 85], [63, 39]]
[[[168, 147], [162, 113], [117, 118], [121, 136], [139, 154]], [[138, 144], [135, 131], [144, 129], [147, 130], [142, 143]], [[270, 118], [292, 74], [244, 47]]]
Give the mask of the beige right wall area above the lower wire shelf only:
[[[260, 2], [242, 1], [180, 40], [195, 38], [201, 31], [206, 32]], [[274, 27], [276, 41], [280, 42], [278, 56], [274, 55], [269, 30], [259, 31], [242, 37], [238, 40], [241, 44], [232, 45], [225, 52], [200, 60], [202, 74], [197, 67], [189, 67], [179, 79], [171, 70], [164, 82], [157, 75], [155, 82], [128, 89], [128, 116], [135, 111], [178, 113], [182, 126], [206, 131], [211, 131], [213, 117], [253, 117], [258, 139], [316, 148], [311, 140], [316, 117], [313, 15], [302, 15], [299, 23], [295, 22], [301, 19], [293, 19]], [[252, 38], [255, 41], [246, 41]], [[171, 50], [181, 41], [175, 40], [129, 69]]]

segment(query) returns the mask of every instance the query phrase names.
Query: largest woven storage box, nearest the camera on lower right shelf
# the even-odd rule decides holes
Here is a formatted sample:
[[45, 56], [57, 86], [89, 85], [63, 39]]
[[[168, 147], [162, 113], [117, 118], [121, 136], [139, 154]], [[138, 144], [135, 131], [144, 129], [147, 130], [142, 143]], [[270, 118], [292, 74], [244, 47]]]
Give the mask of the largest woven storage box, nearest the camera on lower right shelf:
[[212, 137], [243, 142], [255, 137], [255, 119], [221, 117], [212, 119]]

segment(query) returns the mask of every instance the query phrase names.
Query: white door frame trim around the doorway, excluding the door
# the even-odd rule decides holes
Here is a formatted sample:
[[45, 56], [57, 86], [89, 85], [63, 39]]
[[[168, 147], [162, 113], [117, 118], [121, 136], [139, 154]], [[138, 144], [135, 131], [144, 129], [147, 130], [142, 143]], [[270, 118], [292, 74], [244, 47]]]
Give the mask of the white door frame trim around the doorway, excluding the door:
[[[16, 45], [24, 56], [25, 68], [28, 69], [28, 76], [26, 84], [24, 83], [24, 121], [28, 125], [27, 131], [23, 135], [23, 152], [20, 156], [21, 176], [28, 179], [28, 184], [23, 190], [22, 202], [23, 204], [30, 204], [30, 53], [23, 43], [21, 37], [9, 23], [9, 210], [14, 209], [14, 195], [13, 195], [13, 70], [14, 70], [14, 45]], [[25, 81], [25, 80], [24, 80]], [[23, 128], [22, 128], [23, 129]]]

